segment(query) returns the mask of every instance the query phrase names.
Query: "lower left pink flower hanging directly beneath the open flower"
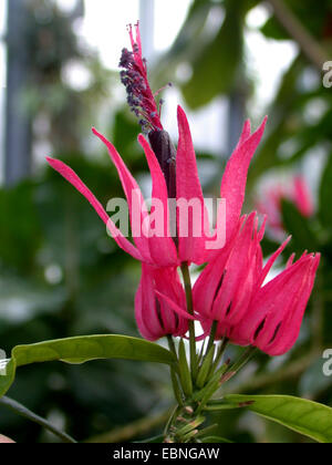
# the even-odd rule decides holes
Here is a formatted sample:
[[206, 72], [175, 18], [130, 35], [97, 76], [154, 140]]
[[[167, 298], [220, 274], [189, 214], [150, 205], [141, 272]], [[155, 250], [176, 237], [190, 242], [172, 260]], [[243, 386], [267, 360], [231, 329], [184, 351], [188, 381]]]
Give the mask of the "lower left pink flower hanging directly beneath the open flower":
[[167, 300], [186, 311], [186, 296], [176, 268], [142, 265], [142, 279], [135, 298], [135, 317], [143, 338], [156, 341], [164, 335], [185, 335], [188, 320], [179, 317]]

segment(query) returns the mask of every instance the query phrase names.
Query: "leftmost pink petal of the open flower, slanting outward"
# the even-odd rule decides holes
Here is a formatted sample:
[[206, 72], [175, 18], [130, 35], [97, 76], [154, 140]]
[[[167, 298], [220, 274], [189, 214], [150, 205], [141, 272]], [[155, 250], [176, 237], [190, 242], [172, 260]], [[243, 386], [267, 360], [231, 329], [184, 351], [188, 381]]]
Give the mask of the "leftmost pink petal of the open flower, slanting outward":
[[95, 209], [100, 218], [105, 223], [107, 228], [110, 229], [114, 240], [121, 247], [123, 250], [125, 250], [127, 254], [129, 254], [132, 257], [134, 257], [136, 260], [142, 260], [141, 252], [129, 242], [121, 232], [120, 229], [114, 225], [114, 223], [111, 220], [108, 215], [106, 214], [104, 207], [102, 204], [96, 199], [96, 197], [92, 194], [92, 192], [89, 189], [89, 187], [80, 179], [80, 177], [76, 175], [76, 173], [70, 168], [68, 165], [65, 165], [60, 159], [50, 158], [48, 157], [46, 161], [52, 166], [53, 169], [55, 169], [61, 176], [63, 176], [70, 184], [72, 184], [79, 193], [81, 193], [86, 200], [92, 205], [92, 207]]

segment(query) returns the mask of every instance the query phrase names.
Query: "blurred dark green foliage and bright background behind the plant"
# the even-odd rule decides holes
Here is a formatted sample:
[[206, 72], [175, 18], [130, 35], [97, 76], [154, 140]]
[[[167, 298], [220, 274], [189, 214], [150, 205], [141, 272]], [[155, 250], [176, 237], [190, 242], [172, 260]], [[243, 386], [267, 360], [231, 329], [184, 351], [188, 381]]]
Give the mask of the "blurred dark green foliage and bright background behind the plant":
[[[154, 90], [173, 83], [163, 93], [164, 126], [176, 143], [183, 104], [206, 196], [218, 195], [245, 118], [257, 127], [269, 114], [246, 211], [273, 218], [266, 257], [287, 234], [293, 240], [286, 259], [304, 249], [323, 255], [293, 351], [273, 360], [260, 354], [228, 392], [332, 405], [331, 378], [322, 373], [323, 350], [332, 348], [332, 81], [323, 85], [322, 70], [332, 60], [331, 0], [0, 0], [0, 347], [9, 354], [45, 339], [138, 335], [138, 264], [44, 159], [66, 161], [103, 204], [122, 196], [91, 135], [95, 125], [148, 186], [139, 126], [117, 70], [129, 45], [126, 24], [138, 18]], [[22, 368], [9, 395], [76, 440], [101, 442], [153, 436], [173, 400], [167, 369], [131, 362]], [[234, 441], [309, 441], [249, 413], [210, 421]], [[3, 406], [0, 432], [23, 443], [56, 441]]]

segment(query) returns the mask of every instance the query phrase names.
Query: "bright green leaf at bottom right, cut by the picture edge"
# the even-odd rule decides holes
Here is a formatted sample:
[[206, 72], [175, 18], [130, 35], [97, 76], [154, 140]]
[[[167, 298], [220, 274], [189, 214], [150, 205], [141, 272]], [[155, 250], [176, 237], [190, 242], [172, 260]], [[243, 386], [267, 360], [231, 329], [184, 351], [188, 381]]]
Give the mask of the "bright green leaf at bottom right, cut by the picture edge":
[[289, 395], [226, 395], [230, 404], [252, 402], [248, 410], [320, 443], [332, 443], [332, 409]]

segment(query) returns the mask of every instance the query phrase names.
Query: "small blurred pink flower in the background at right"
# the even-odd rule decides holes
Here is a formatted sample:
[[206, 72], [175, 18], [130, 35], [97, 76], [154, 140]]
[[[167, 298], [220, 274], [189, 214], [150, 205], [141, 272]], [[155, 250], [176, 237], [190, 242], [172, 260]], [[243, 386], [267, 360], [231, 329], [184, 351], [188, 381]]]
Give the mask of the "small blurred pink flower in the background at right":
[[294, 176], [289, 185], [279, 184], [269, 188], [264, 192], [263, 199], [258, 202], [258, 209], [268, 216], [268, 225], [278, 237], [281, 237], [284, 230], [281, 215], [283, 199], [292, 202], [305, 218], [310, 218], [314, 213], [312, 196], [302, 176]]

